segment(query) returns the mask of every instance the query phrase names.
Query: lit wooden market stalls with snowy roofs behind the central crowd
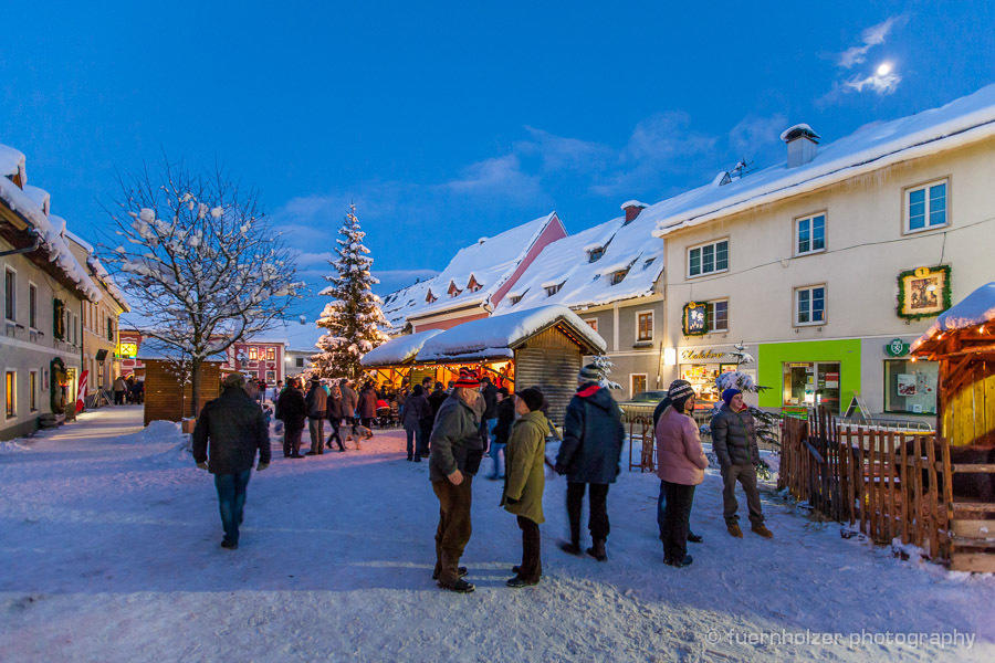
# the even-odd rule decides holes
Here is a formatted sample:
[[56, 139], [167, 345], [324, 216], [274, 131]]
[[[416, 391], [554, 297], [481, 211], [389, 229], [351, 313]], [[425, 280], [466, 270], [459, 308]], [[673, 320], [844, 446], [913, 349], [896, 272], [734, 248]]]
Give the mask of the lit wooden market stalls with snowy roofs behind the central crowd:
[[363, 365], [379, 371], [406, 369], [411, 377], [432, 375], [443, 385], [469, 367], [510, 391], [538, 387], [549, 418], [561, 424], [584, 357], [606, 348], [569, 308], [543, 306], [400, 336], [368, 352]]

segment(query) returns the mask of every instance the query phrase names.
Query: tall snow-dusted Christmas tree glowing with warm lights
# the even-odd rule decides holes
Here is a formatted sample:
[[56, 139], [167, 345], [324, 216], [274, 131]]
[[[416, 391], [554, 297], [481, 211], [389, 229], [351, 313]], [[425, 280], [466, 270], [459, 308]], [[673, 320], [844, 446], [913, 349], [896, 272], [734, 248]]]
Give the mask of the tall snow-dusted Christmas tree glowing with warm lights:
[[386, 319], [380, 298], [371, 291], [379, 281], [370, 274], [373, 259], [363, 245], [366, 233], [359, 227], [355, 204], [349, 206], [338, 234], [336, 259], [328, 261], [335, 274], [325, 276], [331, 285], [321, 292], [332, 298], [317, 320], [326, 332], [318, 338], [318, 354], [311, 358], [311, 373], [356, 380], [363, 375], [363, 355], [387, 340], [381, 329]]

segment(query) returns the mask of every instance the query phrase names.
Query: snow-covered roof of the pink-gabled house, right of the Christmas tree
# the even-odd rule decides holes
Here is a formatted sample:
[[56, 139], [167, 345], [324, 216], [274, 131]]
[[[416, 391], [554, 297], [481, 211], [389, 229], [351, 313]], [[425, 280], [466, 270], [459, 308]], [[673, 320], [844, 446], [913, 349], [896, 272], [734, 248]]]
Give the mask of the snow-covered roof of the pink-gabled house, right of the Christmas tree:
[[[559, 219], [556, 212], [551, 212], [460, 249], [439, 275], [388, 295], [384, 299], [384, 315], [391, 327], [399, 329], [404, 327], [404, 320], [411, 317], [489, 303], [514, 274], [543, 231], [554, 222], [559, 223]], [[471, 275], [480, 290], [467, 287]], [[455, 287], [451, 288], [452, 285]], [[436, 297], [433, 302], [427, 301], [429, 290]], [[454, 296], [450, 295], [450, 290]]]

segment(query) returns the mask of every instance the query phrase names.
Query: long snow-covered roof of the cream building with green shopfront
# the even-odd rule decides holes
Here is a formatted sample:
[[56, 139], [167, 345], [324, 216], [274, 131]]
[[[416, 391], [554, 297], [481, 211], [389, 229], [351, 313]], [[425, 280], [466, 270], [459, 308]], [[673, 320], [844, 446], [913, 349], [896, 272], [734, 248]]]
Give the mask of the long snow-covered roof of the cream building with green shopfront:
[[656, 234], [666, 236], [682, 228], [993, 135], [995, 84], [940, 108], [867, 124], [845, 138], [820, 146], [815, 158], [802, 166], [787, 168], [784, 161], [721, 187], [713, 182], [651, 206], [639, 218], [653, 218], [658, 223]]

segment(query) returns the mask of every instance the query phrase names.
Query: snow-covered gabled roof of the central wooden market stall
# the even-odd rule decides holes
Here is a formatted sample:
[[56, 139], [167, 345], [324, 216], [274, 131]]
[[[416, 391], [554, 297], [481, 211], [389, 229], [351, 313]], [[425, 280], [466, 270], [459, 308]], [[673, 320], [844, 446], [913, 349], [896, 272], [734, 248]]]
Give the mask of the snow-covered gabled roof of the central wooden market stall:
[[470, 320], [447, 329], [422, 346], [416, 362], [511, 359], [516, 347], [551, 327], [559, 328], [587, 355], [604, 352], [608, 347], [576, 313], [566, 306], [553, 305]]

